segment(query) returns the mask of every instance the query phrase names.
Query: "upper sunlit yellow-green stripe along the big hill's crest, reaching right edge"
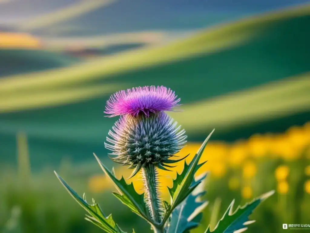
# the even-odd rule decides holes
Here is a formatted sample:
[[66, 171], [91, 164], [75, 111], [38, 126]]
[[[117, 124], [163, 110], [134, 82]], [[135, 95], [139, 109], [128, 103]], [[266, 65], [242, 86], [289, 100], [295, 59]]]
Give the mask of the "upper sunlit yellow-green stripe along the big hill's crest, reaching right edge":
[[307, 4], [202, 30], [193, 37], [162, 47], [124, 52], [59, 70], [8, 76], [0, 80], [0, 94], [22, 89], [80, 84], [89, 80], [105, 79], [108, 75], [218, 52], [249, 40], [272, 22], [309, 14], [310, 4]]

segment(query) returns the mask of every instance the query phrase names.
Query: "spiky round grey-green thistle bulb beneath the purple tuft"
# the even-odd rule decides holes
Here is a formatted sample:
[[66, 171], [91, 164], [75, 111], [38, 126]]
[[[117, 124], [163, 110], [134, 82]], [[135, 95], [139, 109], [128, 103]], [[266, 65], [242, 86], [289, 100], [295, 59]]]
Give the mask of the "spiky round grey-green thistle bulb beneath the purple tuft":
[[[149, 117], [138, 115], [121, 116], [109, 131], [105, 147], [112, 150], [113, 161], [135, 168], [134, 176], [141, 167], [154, 164], [160, 169], [172, 167], [165, 163], [180, 160], [169, 160], [179, 152], [186, 143], [185, 130], [180, 130], [171, 117], [165, 112], [151, 114]], [[182, 158], [184, 159], [184, 158]], [[181, 159], [181, 160], [182, 160]]]

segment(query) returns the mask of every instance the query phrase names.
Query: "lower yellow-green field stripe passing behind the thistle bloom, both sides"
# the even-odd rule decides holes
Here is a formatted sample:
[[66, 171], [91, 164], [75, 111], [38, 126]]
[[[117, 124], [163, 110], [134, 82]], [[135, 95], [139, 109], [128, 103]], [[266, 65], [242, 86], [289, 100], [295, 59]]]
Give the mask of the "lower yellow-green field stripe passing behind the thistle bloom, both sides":
[[[76, 103], [111, 94], [126, 86], [126, 84], [110, 84], [21, 93], [2, 98], [0, 113]], [[197, 133], [208, 127], [227, 130], [237, 124], [248, 124], [310, 110], [309, 89], [310, 73], [306, 73], [260, 87], [182, 105], [183, 112], [169, 114], [188, 129], [188, 133]]]

